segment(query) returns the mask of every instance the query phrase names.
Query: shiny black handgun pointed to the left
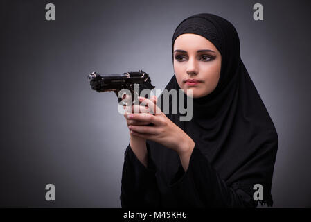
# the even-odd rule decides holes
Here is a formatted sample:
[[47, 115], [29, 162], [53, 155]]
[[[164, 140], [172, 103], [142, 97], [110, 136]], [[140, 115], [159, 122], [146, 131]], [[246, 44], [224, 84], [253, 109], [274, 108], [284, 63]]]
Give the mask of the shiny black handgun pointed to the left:
[[[114, 92], [118, 97], [118, 92], [122, 89], [128, 89], [131, 92], [131, 102], [138, 103], [136, 101], [137, 96], [141, 94], [143, 89], [153, 89], [154, 86], [151, 84], [150, 76], [143, 70], [139, 71], [129, 71], [124, 74], [114, 74], [114, 75], [101, 75], [96, 71], [93, 71], [87, 76], [91, 89], [97, 92]], [[139, 92], [134, 91], [134, 84], [139, 84]], [[139, 94], [138, 94], [139, 93]], [[134, 96], [134, 94], [136, 94]], [[118, 102], [120, 103], [123, 98], [118, 97]], [[123, 103], [124, 104], [124, 103]]]

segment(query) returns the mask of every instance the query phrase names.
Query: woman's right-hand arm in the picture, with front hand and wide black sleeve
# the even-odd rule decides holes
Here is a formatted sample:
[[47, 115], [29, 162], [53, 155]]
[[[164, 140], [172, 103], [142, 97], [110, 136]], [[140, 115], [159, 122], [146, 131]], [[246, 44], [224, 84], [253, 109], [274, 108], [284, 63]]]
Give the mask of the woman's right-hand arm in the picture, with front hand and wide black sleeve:
[[[271, 158], [274, 155], [268, 153], [264, 161], [261, 160], [261, 157], [251, 161], [251, 176], [248, 173], [242, 177], [241, 186], [239, 180], [231, 183], [231, 187], [229, 187], [184, 130], [172, 123], [152, 101], [141, 97], [139, 99], [142, 103], [148, 103], [148, 108], [156, 110], [156, 112], [154, 112], [154, 116], [132, 114], [129, 119], [148, 121], [154, 125], [130, 126], [131, 135], [150, 139], [179, 154], [182, 167], [179, 167], [175, 180], [170, 183], [177, 203], [184, 204], [184, 207], [256, 207], [258, 203], [253, 199], [250, 185], [254, 185], [254, 181], [269, 180], [267, 171], [271, 171], [271, 169], [264, 169], [264, 167], [266, 162], [271, 163]], [[191, 151], [191, 149], [193, 150]], [[241, 189], [241, 187], [243, 188]], [[269, 187], [267, 191], [269, 192]], [[268, 192], [265, 192], [264, 195], [267, 195], [265, 199], [269, 201], [270, 194]], [[269, 203], [272, 202], [269, 201]]]

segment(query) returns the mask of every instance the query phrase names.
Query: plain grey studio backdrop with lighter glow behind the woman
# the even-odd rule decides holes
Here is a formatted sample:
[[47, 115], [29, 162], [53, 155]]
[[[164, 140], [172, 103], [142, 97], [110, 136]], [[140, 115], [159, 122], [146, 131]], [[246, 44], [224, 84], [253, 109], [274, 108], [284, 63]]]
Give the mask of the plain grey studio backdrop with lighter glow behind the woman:
[[[54, 3], [56, 20], [45, 20]], [[264, 20], [252, 9], [262, 3]], [[116, 95], [86, 76], [172, 77], [182, 19], [210, 12], [237, 29], [241, 57], [276, 126], [274, 207], [311, 207], [308, 1], [1, 1], [0, 207], [121, 207], [129, 135]], [[56, 200], [45, 200], [45, 185]]]

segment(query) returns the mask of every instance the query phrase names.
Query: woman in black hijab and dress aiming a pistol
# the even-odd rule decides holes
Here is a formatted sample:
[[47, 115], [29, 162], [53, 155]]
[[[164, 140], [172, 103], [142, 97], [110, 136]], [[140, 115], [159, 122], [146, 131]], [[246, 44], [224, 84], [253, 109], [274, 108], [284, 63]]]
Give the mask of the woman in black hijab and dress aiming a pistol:
[[212, 14], [184, 19], [172, 62], [166, 89], [183, 89], [185, 98], [193, 90], [193, 118], [146, 113], [159, 110], [156, 98], [140, 98], [148, 108], [125, 113], [122, 207], [272, 207], [278, 135], [240, 58], [236, 29]]

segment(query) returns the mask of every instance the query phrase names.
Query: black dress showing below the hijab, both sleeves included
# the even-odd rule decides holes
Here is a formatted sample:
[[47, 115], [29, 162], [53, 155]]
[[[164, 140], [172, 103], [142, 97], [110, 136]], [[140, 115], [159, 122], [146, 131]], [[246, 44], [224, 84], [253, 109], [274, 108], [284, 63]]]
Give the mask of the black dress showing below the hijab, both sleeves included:
[[258, 204], [238, 185], [228, 187], [197, 144], [186, 173], [180, 164], [170, 182], [154, 164], [148, 143], [147, 150], [148, 167], [145, 167], [130, 144], [126, 148], [120, 196], [122, 207], [256, 207]]

